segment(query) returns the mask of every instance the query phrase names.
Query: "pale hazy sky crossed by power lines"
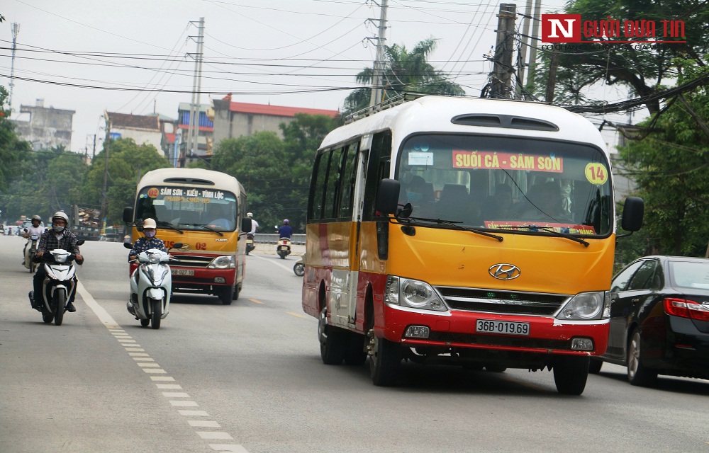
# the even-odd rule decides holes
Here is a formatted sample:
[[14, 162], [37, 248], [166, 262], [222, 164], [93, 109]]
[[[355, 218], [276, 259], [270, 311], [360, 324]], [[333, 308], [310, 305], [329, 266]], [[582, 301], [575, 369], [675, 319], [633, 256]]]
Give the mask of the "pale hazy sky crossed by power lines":
[[[506, 3], [523, 12], [526, 1]], [[0, 85], [9, 88], [12, 23], [18, 23], [13, 110], [37, 98], [45, 107], [76, 110], [72, 150], [88, 146], [90, 153], [93, 135], [105, 134], [104, 110], [177, 118], [178, 104], [191, 102], [189, 54], [203, 17], [201, 103], [232, 92], [234, 101], [337, 110], [356, 86], [355, 74], [372, 66], [376, 21], [369, 19], [379, 18], [377, 4], [3, 0]], [[547, 0], [542, 11], [562, 4]], [[389, 0], [386, 43], [411, 50], [437, 38], [430, 62], [476, 96], [491, 70], [482, 56], [495, 42], [498, 8], [498, 1]]]

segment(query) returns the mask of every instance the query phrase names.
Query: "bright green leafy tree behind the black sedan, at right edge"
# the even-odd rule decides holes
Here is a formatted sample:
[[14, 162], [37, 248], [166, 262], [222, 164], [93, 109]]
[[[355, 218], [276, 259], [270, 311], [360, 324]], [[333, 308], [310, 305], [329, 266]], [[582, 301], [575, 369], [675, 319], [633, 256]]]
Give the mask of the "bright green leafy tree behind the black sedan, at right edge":
[[[679, 83], [709, 74], [694, 61]], [[656, 113], [655, 115], [658, 115]], [[703, 256], [709, 241], [709, 87], [684, 93], [657, 119], [657, 130], [620, 149], [645, 201], [649, 253]], [[647, 125], [652, 119], [647, 120]]]

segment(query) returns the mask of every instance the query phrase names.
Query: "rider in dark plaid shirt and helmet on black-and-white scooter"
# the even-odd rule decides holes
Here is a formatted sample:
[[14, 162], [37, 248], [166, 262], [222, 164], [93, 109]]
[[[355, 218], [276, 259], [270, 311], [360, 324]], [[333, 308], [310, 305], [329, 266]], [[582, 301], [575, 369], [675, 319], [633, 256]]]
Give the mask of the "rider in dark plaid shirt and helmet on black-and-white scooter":
[[[37, 258], [41, 258], [43, 263], [51, 263], [52, 255], [49, 253], [55, 248], [62, 248], [69, 253], [74, 253], [76, 255], [77, 264], [84, 263], [84, 256], [82, 256], [79, 246], [77, 246], [77, 236], [67, 229], [67, 224], [69, 223], [69, 217], [62, 211], [57, 211], [52, 216], [52, 229], [47, 230], [40, 239], [40, 245], [37, 248]], [[42, 306], [42, 286], [43, 282], [47, 277], [47, 271], [43, 265], [37, 268], [37, 272], [34, 277], [34, 294], [37, 297], [33, 297], [33, 293], [30, 292], [30, 299], [32, 300], [32, 307], [38, 309]], [[74, 285], [71, 294], [67, 299], [67, 311], [69, 313], [74, 313], [77, 309], [74, 307], [74, 297], [77, 294], [77, 277], [74, 275]]]

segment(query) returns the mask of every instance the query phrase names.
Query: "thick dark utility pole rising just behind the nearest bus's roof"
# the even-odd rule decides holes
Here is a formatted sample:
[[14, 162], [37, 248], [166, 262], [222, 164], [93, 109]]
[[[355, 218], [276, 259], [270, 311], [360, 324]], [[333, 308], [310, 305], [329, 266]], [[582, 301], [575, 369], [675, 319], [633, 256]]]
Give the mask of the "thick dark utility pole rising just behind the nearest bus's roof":
[[497, 44], [493, 59], [492, 98], [509, 98], [512, 78], [512, 52], [515, 42], [517, 5], [500, 4], [497, 23]]

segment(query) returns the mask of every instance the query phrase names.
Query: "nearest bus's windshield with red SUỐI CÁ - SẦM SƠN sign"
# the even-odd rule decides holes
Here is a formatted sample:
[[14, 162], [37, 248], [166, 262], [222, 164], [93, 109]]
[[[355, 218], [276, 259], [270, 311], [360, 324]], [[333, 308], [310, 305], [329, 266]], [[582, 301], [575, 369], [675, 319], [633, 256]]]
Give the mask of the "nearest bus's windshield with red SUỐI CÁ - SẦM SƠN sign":
[[509, 136], [413, 135], [396, 166], [417, 222], [584, 236], [613, 227], [609, 174], [596, 147]]

